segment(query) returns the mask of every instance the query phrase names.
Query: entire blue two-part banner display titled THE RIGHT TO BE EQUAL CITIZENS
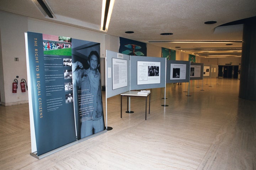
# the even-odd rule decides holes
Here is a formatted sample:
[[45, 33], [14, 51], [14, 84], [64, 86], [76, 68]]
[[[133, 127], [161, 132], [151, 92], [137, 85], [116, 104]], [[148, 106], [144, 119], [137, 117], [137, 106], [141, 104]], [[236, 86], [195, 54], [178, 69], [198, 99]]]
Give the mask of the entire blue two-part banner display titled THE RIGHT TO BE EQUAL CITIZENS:
[[[103, 130], [101, 91], [95, 89], [96, 85], [101, 87], [97, 58], [100, 44], [28, 32], [27, 47], [32, 98], [29, 104], [33, 110], [37, 155]], [[94, 53], [90, 55], [88, 50]], [[99, 77], [93, 79], [91, 75]], [[95, 88], [90, 89], [88, 84], [94, 84]], [[94, 120], [100, 120], [101, 124]], [[86, 123], [82, 124], [83, 121]], [[81, 137], [81, 131], [86, 131], [86, 135]]]

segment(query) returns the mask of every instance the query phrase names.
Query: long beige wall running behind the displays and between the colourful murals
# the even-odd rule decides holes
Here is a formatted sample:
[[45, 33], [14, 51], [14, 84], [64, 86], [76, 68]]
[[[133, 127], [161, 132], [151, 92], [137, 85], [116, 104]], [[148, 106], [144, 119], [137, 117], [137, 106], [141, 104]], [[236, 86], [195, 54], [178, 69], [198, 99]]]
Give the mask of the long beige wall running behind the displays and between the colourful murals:
[[[12, 82], [19, 76], [27, 80], [25, 32], [37, 32], [50, 35], [62, 35], [75, 39], [99, 42], [101, 58], [106, 56], [106, 50], [119, 51], [119, 37], [90, 30], [66, 26], [30, 17], [16, 15], [0, 10], [0, 95], [1, 104], [10, 106], [28, 102], [28, 93], [22, 93], [20, 85], [17, 93], [12, 93]], [[3, 24], [4, 23], [4, 24]], [[147, 44], [147, 56], [161, 57], [161, 47]], [[176, 50], [176, 60], [188, 61], [188, 54]], [[14, 58], [18, 57], [19, 61]], [[197, 63], [225, 65], [232, 62], [232, 65], [239, 65], [240, 58], [210, 59], [196, 57]], [[104, 60], [101, 60], [101, 77], [104, 76]], [[103, 82], [102, 82], [103, 85]]]

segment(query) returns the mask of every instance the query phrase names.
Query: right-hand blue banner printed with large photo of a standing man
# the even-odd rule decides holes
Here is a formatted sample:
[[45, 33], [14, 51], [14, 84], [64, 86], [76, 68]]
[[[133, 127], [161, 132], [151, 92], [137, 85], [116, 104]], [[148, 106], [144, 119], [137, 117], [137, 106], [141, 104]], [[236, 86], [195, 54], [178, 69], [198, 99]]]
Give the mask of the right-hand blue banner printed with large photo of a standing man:
[[100, 76], [100, 43], [72, 39], [72, 77], [78, 140], [105, 127]]

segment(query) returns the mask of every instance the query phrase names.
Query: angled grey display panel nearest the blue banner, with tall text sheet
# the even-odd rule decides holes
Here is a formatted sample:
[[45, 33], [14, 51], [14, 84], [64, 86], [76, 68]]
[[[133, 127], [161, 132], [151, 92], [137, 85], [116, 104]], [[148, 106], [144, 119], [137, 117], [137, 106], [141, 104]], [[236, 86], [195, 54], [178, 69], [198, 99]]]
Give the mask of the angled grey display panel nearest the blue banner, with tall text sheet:
[[130, 90], [130, 56], [106, 50], [106, 97]]

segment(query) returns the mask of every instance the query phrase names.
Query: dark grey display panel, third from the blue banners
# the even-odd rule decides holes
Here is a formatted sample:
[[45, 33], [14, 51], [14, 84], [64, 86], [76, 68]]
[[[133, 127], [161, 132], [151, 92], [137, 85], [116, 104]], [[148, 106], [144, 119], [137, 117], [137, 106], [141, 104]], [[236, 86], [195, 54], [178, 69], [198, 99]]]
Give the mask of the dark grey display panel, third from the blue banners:
[[190, 61], [166, 60], [166, 83], [189, 82]]

